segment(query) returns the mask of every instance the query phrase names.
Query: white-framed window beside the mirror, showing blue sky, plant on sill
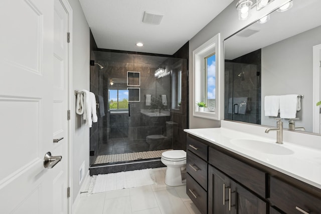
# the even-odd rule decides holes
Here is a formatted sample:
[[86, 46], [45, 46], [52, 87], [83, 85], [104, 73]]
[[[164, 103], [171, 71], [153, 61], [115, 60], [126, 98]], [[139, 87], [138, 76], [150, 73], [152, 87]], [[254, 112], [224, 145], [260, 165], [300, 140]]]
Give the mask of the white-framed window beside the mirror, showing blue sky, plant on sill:
[[[221, 50], [220, 34], [193, 51], [193, 116], [208, 119], [223, 119], [224, 75], [219, 75]], [[196, 103], [204, 102], [204, 112], [199, 111]], [[222, 110], [221, 110], [222, 109]]]

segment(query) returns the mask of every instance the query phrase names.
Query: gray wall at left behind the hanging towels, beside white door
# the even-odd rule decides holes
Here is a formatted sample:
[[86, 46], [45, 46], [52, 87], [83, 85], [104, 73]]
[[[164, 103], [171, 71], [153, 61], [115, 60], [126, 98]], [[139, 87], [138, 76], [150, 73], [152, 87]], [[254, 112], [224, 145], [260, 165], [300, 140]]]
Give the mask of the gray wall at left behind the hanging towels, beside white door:
[[[73, 79], [72, 90], [89, 90], [89, 26], [80, 7], [78, 0], [68, 0], [73, 10], [73, 30], [71, 32], [72, 42], [72, 61], [73, 61]], [[86, 175], [89, 168], [89, 128], [83, 125], [80, 115], [76, 115], [74, 109], [76, 96], [72, 96], [74, 113], [71, 115], [72, 122], [72, 201], [75, 201], [80, 191], [79, 168], [85, 162]]]

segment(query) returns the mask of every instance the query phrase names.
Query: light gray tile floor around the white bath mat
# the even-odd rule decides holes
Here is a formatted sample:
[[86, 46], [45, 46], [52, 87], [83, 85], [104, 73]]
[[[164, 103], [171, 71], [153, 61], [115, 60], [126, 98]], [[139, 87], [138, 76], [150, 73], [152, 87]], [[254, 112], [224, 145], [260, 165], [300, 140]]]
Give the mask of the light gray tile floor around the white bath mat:
[[82, 193], [76, 214], [199, 214], [186, 194], [186, 185], [167, 186], [166, 167], [152, 169], [157, 184], [87, 195]]

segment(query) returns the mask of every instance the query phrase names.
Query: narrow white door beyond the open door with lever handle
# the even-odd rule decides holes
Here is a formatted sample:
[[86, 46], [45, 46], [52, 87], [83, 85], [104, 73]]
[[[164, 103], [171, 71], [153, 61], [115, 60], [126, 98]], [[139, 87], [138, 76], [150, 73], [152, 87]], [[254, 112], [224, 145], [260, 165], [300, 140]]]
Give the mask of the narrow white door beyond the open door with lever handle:
[[59, 0], [54, 0], [54, 82], [53, 82], [53, 139], [58, 141], [53, 154], [65, 157], [52, 168], [54, 207], [53, 213], [67, 213], [68, 188], [68, 13]]

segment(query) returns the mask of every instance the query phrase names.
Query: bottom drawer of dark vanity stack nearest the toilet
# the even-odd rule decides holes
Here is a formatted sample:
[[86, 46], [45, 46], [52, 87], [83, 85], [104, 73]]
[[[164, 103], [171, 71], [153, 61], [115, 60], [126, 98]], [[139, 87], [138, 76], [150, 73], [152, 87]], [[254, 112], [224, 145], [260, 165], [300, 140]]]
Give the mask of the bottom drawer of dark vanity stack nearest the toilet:
[[191, 177], [186, 174], [186, 192], [201, 213], [207, 213], [207, 193], [206, 191]]

